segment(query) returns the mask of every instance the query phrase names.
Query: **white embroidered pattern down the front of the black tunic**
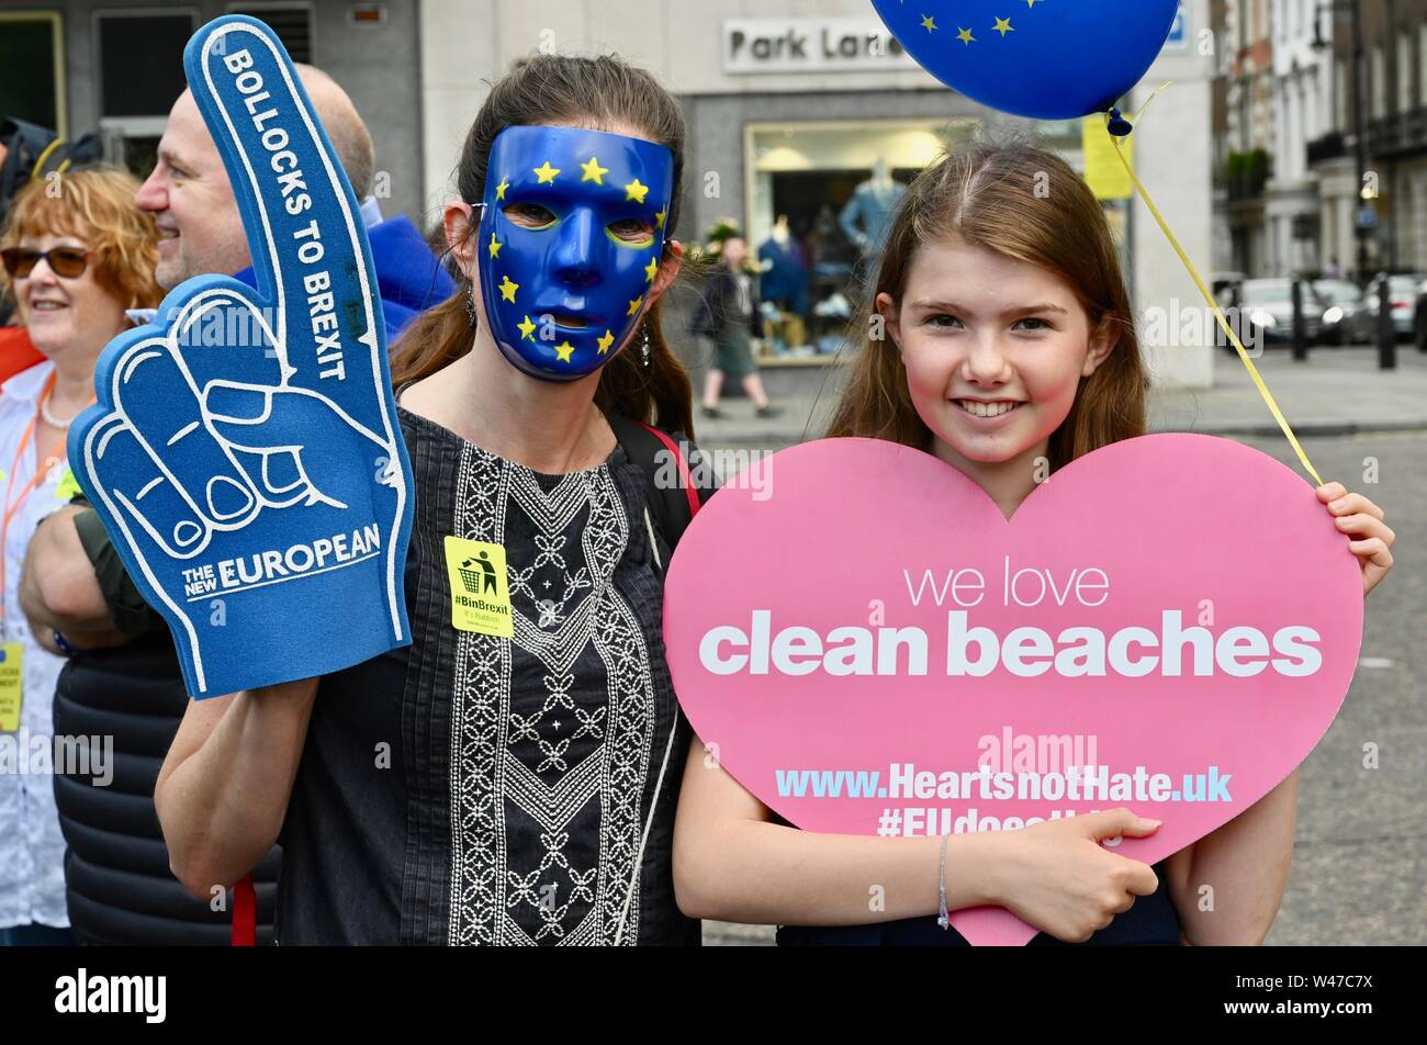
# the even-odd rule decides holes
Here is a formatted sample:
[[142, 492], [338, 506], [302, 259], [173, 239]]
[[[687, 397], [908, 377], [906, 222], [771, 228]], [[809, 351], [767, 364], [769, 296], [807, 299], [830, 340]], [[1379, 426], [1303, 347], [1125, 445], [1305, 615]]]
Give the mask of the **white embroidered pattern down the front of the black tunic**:
[[[608, 467], [572, 473], [545, 491], [528, 468], [465, 445], [457, 534], [507, 544], [512, 520], [522, 520], [514, 528], [532, 531], [535, 545], [531, 561], [508, 562], [515, 637], [461, 632], [457, 644], [448, 941], [612, 944], [632, 888], [621, 938], [632, 945], [656, 704], [644, 632], [611, 582], [629, 520]], [[589, 650], [605, 671], [598, 707], [581, 707], [569, 692]], [[512, 692], [512, 651], [539, 664], [544, 698]], [[538, 825], [535, 851], [509, 849], [512, 817]], [[588, 844], [578, 847], [586, 855], [574, 852], [574, 832], [596, 835], [598, 855]]]

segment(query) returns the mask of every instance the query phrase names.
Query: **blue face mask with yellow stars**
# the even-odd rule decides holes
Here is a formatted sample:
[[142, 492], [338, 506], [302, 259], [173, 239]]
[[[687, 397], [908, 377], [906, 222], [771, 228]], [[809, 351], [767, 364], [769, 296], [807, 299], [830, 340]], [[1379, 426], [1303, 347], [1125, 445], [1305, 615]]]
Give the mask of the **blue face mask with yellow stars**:
[[477, 261], [495, 344], [569, 381], [615, 357], [649, 310], [674, 154], [572, 127], [507, 127], [491, 147]]

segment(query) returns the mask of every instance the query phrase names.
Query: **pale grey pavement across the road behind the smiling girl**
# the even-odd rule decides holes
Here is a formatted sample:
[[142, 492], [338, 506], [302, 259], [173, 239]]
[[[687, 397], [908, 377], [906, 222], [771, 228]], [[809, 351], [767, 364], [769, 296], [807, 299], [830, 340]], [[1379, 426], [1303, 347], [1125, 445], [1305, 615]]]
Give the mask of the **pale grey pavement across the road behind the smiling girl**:
[[[1296, 363], [1286, 348], [1266, 350], [1254, 360], [1279, 410], [1297, 435], [1347, 435], [1364, 431], [1427, 430], [1427, 353], [1397, 347], [1397, 368], [1377, 368], [1377, 350], [1313, 348]], [[771, 393], [781, 417], [759, 420], [748, 400], [725, 400], [728, 417], [695, 417], [699, 445], [781, 450], [818, 438], [836, 407], [841, 371], [828, 368], [812, 393]], [[816, 381], [803, 383], [816, 385]], [[1214, 385], [1150, 390], [1150, 431], [1197, 431], [1210, 435], [1280, 435], [1277, 421], [1259, 395], [1237, 355], [1217, 351]]]

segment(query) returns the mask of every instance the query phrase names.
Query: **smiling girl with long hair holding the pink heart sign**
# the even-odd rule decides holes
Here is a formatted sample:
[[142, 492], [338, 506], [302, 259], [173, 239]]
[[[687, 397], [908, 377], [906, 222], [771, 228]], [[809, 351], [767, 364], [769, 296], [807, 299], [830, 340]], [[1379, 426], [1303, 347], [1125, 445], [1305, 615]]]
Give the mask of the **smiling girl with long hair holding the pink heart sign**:
[[[886, 338], [863, 347], [829, 434], [935, 454], [1007, 518], [1035, 488], [1036, 458], [1055, 470], [1144, 433], [1114, 244], [1093, 194], [1052, 153], [980, 143], [925, 171], [896, 214], [875, 308]], [[1381, 510], [1336, 483], [1319, 498], [1371, 591], [1393, 561]], [[675, 832], [679, 907], [783, 925], [782, 944], [965, 944], [933, 918], [943, 844], [948, 908], [1005, 907], [1042, 931], [1036, 944], [1257, 944], [1293, 851], [1297, 774], [1150, 868], [1100, 845], [1159, 827], [1124, 808], [946, 839], [819, 835], [779, 822], [709, 762], [695, 744]], [[1219, 887], [1214, 914], [1196, 902], [1206, 881]], [[869, 911], [872, 885], [883, 911]], [[843, 928], [795, 928], [816, 925]]]

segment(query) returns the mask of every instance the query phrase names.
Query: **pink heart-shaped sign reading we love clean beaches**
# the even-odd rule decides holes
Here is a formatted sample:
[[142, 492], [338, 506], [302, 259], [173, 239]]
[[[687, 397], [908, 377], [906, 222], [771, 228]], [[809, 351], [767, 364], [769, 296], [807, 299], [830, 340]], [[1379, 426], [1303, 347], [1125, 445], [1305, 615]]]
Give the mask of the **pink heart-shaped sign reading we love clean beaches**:
[[[1016, 829], [1126, 805], [1156, 862], [1253, 805], [1337, 714], [1363, 630], [1313, 488], [1230, 440], [1087, 454], [1007, 521], [940, 460], [876, 440], [735, 477], [669, 565], [679, 702], [808, 831]], [[1025, 944], [1002, 908], [952, 914]]]

